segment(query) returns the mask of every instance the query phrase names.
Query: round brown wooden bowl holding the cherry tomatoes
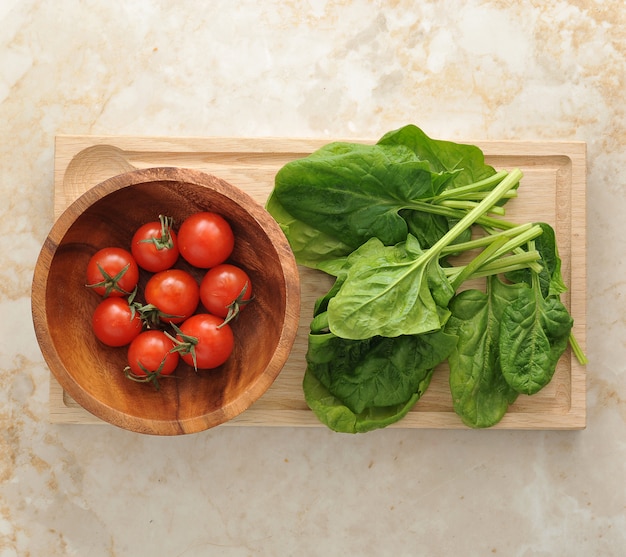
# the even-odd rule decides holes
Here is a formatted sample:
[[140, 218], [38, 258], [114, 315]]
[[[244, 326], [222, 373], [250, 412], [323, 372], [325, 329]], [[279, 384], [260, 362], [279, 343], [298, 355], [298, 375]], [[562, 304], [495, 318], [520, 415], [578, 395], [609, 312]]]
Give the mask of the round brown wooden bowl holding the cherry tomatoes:
[[[124, 376], [127, 348], [101, 344], [91, 330], [100, 297], [85, 287], [90, 257], [130, 246], [133, 231], [165, 214], [181, 223], [211, 210], [236, 237], [230, 261], [246, 269], [255, 300], [232, 323], [236, 347], [216, 370], [180, 364], [159, 391]], [[178, 267], [189, 268], [182, 260]], [[202, 271], [193, 270], [198, 280]], [[140, 290], [148, 274], [140, 277]], [[294, 342], [300, 312], [297, 266], [280, 227], [265, 209], [227, 182], [202, 172], [151, 168], [110, 178], [87, 191], [53, 225], [32, 286], [35, 332], [51, 372], [86, 410], [131, 431], [178, 435], [222, 424], [273, 383]]]

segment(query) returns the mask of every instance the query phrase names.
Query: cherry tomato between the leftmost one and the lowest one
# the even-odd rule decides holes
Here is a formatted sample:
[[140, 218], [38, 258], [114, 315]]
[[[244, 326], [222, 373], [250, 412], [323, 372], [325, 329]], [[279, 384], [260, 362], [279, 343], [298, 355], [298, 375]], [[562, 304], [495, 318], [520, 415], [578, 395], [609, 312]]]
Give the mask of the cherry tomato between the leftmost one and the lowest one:
[[98, 340], [107, 346], [126, 346], [143, 326], [139, 313], [119, 297], [102, 300], [93, 312], [91, 323]]

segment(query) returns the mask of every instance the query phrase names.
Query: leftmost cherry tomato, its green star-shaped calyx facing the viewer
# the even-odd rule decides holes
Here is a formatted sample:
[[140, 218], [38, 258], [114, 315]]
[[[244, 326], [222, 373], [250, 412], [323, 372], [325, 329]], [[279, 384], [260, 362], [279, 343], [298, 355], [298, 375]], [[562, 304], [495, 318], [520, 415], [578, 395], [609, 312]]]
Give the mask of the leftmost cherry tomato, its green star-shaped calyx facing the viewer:
[[122, 248], [103, 248], [87, 264], [87, 286], [101, 296], [128, 296], [139, 281], [139, 267]]

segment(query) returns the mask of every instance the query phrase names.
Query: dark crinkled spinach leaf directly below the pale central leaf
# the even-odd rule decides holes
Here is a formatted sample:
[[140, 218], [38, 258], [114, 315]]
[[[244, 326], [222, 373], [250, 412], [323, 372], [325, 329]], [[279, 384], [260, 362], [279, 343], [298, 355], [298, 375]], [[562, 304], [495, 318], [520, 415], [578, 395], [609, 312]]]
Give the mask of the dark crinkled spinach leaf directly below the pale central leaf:
[[430, 381], [456, 337], [426, 335], [347, 340], [332, 333], [310, 334], [307, 369], [352, 412], [404, 404]]

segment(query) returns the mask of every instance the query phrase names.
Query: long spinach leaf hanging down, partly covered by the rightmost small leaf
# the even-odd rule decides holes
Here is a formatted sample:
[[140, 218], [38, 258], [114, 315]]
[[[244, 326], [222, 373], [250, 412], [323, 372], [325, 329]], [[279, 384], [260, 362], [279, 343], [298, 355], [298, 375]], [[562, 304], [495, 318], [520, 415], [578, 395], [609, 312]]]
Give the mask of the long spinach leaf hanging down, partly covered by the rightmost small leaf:
[[445, 331], [458, 337], [448, 357], [450, 391], [454, 411], [470, 427], [495, 425], [517, 398], [500, 367], [500, 320], [507, 305], [528, 289], [492, 276], [486, 292], [465, 290], [450, 302]]

